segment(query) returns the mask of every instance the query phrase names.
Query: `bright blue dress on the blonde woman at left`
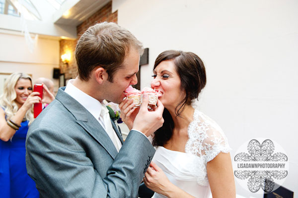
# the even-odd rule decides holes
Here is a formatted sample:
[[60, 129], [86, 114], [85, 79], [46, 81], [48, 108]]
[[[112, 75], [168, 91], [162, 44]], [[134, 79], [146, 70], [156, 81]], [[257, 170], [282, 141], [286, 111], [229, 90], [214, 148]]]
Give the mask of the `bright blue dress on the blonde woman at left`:
[[12, 140], [0, 140], [0, 198], [39, 198], [26, 169], [28, 121], [21, 123]]

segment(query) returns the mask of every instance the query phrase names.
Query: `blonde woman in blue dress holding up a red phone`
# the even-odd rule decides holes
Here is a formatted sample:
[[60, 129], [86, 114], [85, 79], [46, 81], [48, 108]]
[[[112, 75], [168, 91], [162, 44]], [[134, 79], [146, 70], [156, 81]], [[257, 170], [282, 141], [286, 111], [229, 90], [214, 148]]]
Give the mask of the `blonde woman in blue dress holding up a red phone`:
[[53, 98], [46, 90], [44, 100], [32, 90], [31, 77], [13, 73], [4, 83], [0, 96], [0, 189], [1, 198], [38, 198], [34, 181], [25, 163], [25, 140], [33, 122], [33, 104]]

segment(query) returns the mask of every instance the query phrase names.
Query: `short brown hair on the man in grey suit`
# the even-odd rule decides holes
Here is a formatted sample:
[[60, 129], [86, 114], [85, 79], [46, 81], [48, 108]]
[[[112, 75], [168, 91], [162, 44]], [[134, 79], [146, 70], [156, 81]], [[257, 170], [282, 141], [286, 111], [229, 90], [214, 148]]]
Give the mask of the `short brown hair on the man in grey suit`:
[[89, 27], [80, 37], [75, 48], [78, 77], [87, 81], [91, 71], [101, 66], [113, 81], [113, 74], [121, 68], [131, 48], [143, 54], [143, 45], [125, 28], [116, 23], [102, 22]]

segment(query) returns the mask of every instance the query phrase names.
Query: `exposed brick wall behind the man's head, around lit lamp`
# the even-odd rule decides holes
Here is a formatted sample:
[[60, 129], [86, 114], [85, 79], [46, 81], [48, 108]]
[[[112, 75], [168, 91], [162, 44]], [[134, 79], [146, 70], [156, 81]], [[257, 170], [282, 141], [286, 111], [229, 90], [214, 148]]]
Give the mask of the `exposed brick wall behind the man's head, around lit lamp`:
[[[82, 35], [84, 31], [88, 29], [88, 27], [94, 25], [95, 23], [103, 21], [117, 23], [117, 16], [117, 11], [112, 13], [112, 1], [108, 2], [106, 5], [104, 5], [97, 12], [95, 12], [93, 15], [91, 15], [89, 18], [87, 18], [76, 27], [76, 41], [80, 38], [80, 35]], [[65, 73], [65, 79], [75, 78], [77, 75], [77, 68], [74, 56], [76, 41], [65, 39], [60, 40], [60, 70], [61, 73]], [[68, 64], [64, 64], [61, 60], [61, 55], [65, 53], [71, 54], [71, 61]]]

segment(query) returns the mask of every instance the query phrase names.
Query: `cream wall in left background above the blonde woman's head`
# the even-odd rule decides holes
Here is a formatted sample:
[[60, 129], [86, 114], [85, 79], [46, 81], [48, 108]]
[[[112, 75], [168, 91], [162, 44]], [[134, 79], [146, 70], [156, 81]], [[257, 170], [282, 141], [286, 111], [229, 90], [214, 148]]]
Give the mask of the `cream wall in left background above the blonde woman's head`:
[[59, 68], [59, 40], [39, 37], [30, 53], [24, 36], [10, 32], [0, 33], [0, 44], [0, 73], [25, 72], [32, 74], [33, 82], [38, 77], [50, 78], [58, 90], [53, 68]]

